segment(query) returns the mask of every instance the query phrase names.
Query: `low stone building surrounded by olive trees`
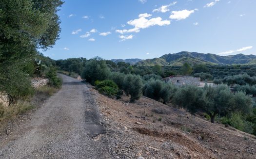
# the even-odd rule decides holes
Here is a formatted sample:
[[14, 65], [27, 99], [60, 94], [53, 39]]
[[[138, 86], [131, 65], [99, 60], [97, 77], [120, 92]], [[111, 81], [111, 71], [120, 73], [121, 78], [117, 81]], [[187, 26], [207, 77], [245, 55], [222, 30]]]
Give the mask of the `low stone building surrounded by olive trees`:
[[172, 82], [175, 85], [195, 85], [200, 86], [200, 78], [195, 78], [192, 76], [170, 76], [163, 79], [166, 83]]

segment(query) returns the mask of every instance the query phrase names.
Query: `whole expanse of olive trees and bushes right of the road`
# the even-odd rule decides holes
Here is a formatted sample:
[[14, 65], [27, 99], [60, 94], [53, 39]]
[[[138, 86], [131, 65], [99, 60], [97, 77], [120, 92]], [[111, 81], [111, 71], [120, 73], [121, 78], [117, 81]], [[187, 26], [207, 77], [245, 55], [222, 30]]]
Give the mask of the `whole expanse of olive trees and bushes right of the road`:
[[[68, 64], [80, 68], [68, 67]], [[109, 97], [119, 99], [124, 94], [134, 102], [144, 95], [165, 104], [172, 103], [191, 113], [203, 113], [212, 123], [220, 122], [256, 135], [254, 67], [205, 64], [137, 66], [123, 62], [116, 64], [100, 57], [61, 60], [57, 65], [69, 74], [81, 75], [82, 79]], [[222, 76], [223, 71], [227, 71], [225, 76]], [[213, 81], [216, 85], [178, 87], [163, 81], [164, 77], [173, 75], [199, 77], [201, 81]]]

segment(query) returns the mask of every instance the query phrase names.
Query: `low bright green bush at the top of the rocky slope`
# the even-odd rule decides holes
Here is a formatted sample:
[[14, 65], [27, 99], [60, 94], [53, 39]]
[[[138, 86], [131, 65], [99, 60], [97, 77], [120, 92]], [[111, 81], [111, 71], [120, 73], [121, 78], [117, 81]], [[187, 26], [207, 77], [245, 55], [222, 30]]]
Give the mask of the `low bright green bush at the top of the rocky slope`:
[[118, 95], [118, 85], [113, 80], [95, 81], [99, 93], [114, 97]]

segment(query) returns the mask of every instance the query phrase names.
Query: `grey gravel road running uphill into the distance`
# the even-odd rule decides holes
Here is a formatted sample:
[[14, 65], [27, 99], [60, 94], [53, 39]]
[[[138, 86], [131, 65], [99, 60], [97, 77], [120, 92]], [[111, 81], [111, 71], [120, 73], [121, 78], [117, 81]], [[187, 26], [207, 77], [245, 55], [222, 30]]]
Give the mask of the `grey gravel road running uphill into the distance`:
[[60, 75], [62, 89], [0, 142], [0, 159], [111, 159], [97, 105], [86, 84]]

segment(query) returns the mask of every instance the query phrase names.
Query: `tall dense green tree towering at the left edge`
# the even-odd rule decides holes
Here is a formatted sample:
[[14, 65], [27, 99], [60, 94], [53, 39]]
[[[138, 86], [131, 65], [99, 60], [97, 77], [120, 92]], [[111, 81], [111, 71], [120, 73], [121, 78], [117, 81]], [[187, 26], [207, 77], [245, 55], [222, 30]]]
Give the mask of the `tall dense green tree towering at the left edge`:
[[59, 38], [61, 0], [0, 1], [0, 92], [11, 100], [33, 94], [37, 48], [47, 49]]

